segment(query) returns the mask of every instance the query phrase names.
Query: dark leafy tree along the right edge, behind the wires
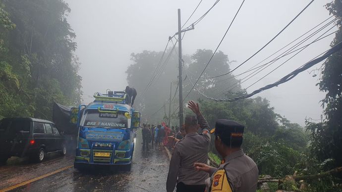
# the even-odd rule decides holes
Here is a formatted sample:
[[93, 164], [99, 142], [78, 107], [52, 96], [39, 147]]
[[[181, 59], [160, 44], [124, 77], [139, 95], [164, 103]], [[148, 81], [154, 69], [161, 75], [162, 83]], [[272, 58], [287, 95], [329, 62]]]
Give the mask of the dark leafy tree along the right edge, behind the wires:
[[[337, 26], [342, 28], [342, 0], [326, 4], [330, 14], [338, 17]], [[335, 34], [331, 43], [334, 47], [342, 41], [342, 31]], [[312, 135], [312, 150], [320, 160], [335, 159], [336, 166], [342, 166], [342, 51], [329, 56], [323, 64], [319, 89], [326, 93], [322, 99], [325, 120], [322, 123], [307, 121], [307, 130]]]

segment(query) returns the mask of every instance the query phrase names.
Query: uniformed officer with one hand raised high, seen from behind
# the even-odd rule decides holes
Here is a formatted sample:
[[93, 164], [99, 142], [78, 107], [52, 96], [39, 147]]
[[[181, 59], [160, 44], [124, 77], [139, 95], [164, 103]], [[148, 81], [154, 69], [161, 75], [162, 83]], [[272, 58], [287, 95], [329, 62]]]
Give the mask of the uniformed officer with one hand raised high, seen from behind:
[[[167, 192], [204, 192], [205, 180], [209, 174], [194, 169], [195, 162], [207, 163], [210, 144], [210, 133], [198, 103], [188, 102], [195, 115], [185, 117], [185, 138], [175, 144], [170, 160], [170, 168], [166, 183]], [[198, 134], [198, 125], [202, 133]]]

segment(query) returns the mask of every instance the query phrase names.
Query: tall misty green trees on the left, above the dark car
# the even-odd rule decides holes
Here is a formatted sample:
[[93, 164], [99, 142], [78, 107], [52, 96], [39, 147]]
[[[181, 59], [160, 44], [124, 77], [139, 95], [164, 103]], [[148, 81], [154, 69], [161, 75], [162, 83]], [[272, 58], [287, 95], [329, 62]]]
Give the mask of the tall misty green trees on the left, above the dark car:
[[52, 118], [53, 102], [80, 102], [75, 34], [63, 0], [0, 1], [0, 118]]

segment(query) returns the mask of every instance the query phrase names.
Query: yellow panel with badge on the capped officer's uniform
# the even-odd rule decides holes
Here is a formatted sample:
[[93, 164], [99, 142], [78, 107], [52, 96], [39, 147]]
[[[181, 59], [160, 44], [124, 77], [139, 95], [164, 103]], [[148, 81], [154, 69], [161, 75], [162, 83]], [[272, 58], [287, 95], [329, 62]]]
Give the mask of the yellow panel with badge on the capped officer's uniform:
[[224, 169], [220, 169], [214, 173], [211, 191], [232, 192]]

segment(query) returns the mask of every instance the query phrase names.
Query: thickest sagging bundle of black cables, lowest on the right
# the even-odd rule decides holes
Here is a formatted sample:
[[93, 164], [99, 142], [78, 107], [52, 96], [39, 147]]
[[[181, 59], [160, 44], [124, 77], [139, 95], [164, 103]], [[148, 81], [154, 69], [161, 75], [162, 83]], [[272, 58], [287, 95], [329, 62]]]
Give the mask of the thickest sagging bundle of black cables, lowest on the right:
[[268, 89], [271, 89], [273, 87], [276, 87], [280, 84], [283, 84], [291, 79], [293, 79], [296, 75], [298, 75], [299, 73], [309, 69], [310, 67], [312, 67], [313, 65], [323, 61], [324, 59], [326, 59], [327, 57], [329, 57], [330, 55], [334, 54], [335, 52], [339, 51], [342, 49], [342, 42], [337, 44], [336, 46], [334, 46], [333, 48], [330, 48], [328, 51], [326, 51], [326, 53], [323, 55], [323, 56], [320, 56], [316, 59], [313, 59], [311, 60], [310, 62], [307, 62], [306, 64], [302, 65], [301, 67], [299, 67], [298, 69], [292, 71], [291, 73], [287, 74], [286, 76], [284, 76], [282, 79], [278, 80], [277, 82], [273, 83], [273, 84], [269, 84], [265, 87], [262, 87], [260, 89], [257, 89], [255, 91], [253, 91], [251, 94], [246, 94], [246, 95], [242, 95], [242, 96], [237, 96], [235, 98], [231, 98], [231, 99], [216, 99], [216, 98], [213, 98], [213, 97], [208, 97], [208, 96], [205, 96], [204, 94], [200, 93], [197, 89], [196, 91], [198, 93], [200, 93], [202, 96], [205, 96], [206, 98], [208, 99], [211, 99], [211, 100], [214, 100], [214, 101], [235, 101], [235, 100], [238, 100], [238, 99], [241, 99], [241, 98], [249, 98], [251, 96], [254, 96], [262, 91], [265, 91], [265, 90], [268, 90]]

